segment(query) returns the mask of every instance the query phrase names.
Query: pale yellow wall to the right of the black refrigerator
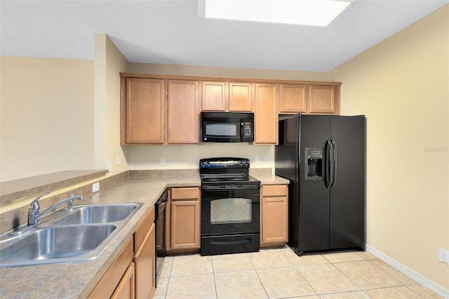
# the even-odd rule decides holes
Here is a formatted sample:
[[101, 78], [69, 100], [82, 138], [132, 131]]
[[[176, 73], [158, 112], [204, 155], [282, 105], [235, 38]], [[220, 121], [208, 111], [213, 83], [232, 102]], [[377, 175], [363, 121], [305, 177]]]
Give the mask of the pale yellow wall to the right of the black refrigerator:
[[449, 288], [449, 5], [330, 72], [367, 117], [367, 244]]

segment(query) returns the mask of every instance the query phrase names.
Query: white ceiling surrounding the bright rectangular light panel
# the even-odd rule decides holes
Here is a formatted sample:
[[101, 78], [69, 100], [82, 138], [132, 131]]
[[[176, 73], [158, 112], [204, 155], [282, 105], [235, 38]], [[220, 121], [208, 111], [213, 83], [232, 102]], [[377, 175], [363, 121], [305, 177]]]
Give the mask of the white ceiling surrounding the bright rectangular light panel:
[[[357, 0], [328, 27], [204, 20], [196, 0], [0, 1], [1, 55], [328, 72], [449, 0]], [[255, 6], [257, 1], [255, 0]]]

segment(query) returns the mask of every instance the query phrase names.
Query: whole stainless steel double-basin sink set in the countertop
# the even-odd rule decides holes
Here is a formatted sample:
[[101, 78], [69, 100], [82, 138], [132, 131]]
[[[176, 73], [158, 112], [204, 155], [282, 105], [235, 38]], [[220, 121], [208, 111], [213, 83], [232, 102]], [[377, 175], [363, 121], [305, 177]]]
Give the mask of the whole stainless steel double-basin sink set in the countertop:
[[0, 237], [0, 267], [93, 260], [142, 206], [91, 204], [49, 213], [36, 225]]

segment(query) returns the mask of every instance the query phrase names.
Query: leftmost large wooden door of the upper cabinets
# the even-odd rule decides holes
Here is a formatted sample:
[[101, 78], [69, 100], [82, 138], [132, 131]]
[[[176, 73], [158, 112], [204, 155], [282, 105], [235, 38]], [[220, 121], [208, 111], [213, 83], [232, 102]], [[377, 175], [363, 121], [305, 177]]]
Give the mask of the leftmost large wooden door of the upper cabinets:
[[162, 79], [126, 79], [126, 144], [164, 142], [164, 90]]

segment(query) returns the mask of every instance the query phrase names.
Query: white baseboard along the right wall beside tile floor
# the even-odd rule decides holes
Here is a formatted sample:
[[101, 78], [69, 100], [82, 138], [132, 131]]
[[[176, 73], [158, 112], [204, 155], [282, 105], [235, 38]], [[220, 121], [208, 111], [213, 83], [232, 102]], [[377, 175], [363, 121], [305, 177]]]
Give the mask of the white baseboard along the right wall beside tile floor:
[[383, 260], [385, 263], [387, 263], [391, 267], [394, 267], [399, 272], [406, 274], [408, 277], [422, 284], [426, 288], [429, 288], [429, 290], [433, 291], [434, 293], [437, 293], [441, 297], [449, 298], [449, 290], [447, 288], [444, 288], [443, 286], [436, 284], [434, 281], [431, 281], [427, 277], [422, 276], [415, 270], [412, 270], [406, 265], [399, 263], [397, 260], [391, 258], [389, 255], [386, 255], [385, 253], [378, 251], [376, 248], [373, 248], [368, 244], [366, 244], [366, 251], [368, 251], [375, 257], [379, 258], [380, 260]]

